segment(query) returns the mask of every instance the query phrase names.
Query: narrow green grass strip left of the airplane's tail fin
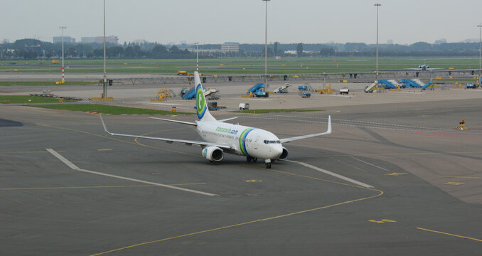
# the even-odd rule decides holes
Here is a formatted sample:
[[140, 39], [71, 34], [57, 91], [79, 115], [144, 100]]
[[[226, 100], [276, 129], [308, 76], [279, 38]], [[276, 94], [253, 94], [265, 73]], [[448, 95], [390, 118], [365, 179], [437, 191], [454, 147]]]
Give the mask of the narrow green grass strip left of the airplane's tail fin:
[[[29, 107], [43, 107], [53, 110], [70, 110], [82, 112], [97, 112], [102, 114], [173, 114], [171, 111], [149, 110], [136, 107], [118, 107], [101, 104], [55, 104], [55, 105], [28, 105]], [[176, 114], [193, 114], [188, 112], [176, 112]]]

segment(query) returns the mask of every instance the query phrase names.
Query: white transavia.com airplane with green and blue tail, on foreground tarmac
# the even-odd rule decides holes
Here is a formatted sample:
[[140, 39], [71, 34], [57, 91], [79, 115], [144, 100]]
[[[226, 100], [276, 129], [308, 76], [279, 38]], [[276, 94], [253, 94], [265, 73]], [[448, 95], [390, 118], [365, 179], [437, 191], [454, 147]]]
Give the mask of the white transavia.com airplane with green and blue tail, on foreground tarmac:
[[157, 117], [149, 117], [168, 122], [177, 122], [180, 124], [188, 124], [196, 127], [196, 130], [204, 142], [191, 141], [185, 139], [168, 139], [160, 137], [147, 137], [131, 134], [117, 134], [107, 131], [102, 116], [99, 115], [105, 132], [113, 136], [135, 137], [143, 139], [158, 139], [168, 143], [179, 142], [190, 145], [199, 145], [203, 149], [202, 156], [209, 161], [219, 162], [223, 160], [223, 154], [237, 154], [246, 156], [248, 162], [255, 162], [257, 159], [264, 159], [266, 168], [271, 168], [272, 161], [284, 160], [288, 157], [288, 150], [282, 146], [282, 143], [293, 142], [298, 139], [306, 139], [325, 134], [331, 134], [331, 116], [328, 116], [328, 130], [317, 134], [309, 134], [298, 137], [278, 139], [272, 132], [264, 129], [253, 127], [245, 127], [239, 124], [228, 124], [225, 121], [235, 119], [236, 117], [216, 120], [209, 112], [206, 100], [203, 94], [203, 85], [200, 83], [198, 72], [194, 73], [196, 82], [196, 110], [198, 120], [196, 122], [184, 122], [172, 119], [164, 119]]

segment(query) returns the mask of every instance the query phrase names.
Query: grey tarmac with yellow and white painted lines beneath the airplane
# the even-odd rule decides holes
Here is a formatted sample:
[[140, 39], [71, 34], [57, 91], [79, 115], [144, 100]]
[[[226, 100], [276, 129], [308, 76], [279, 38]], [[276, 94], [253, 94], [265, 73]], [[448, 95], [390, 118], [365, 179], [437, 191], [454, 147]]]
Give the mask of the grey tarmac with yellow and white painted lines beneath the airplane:
[[[218, 105], [247, 100], [238, 86], [220, 86]], [[58, 93], [94, 90], [68, 88]], [[151, 106], [142, 90], [116, 92], [132, 89], [113, 88], [125, 94], [115, 103]], [[333, 134], [284, 144], [289, 161], [272, 169], [112, 137], [97, 114], [1, 105], [0, 254], [480, 255], [482, 90], [353, 90], [250, 102], [316, 112], [213, 112], [279, 138], [323, 132], [331, 115]], [[461, 119], [467, 131], [454, 130]], [[200, 139], [146, 116], [104, 120], [111, 132]]]

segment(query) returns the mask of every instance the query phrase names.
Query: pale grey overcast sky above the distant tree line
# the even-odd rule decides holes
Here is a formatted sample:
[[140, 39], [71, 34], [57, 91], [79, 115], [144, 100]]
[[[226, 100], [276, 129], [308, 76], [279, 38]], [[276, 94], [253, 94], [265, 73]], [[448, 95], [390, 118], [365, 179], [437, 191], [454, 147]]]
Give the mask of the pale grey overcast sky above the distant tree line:
[[[377, 1], [271, 0], [268, 42], [346, 43], [376, 41]], [[446, 38], [478, 41], [482, 0], [379, 0], [380, 43]], [[102, 0], [0, 0], [0, 40], [52, 41], [102, 36]], [[119, 43], [264, 43], [262, 0], [106, 0], [106, 34]]]

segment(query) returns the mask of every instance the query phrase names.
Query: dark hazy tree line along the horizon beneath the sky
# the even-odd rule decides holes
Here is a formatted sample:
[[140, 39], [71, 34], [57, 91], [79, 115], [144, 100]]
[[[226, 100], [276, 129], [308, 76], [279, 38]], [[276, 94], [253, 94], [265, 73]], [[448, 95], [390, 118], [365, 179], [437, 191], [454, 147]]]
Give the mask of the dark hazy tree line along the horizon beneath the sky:
[[[199, 46], [200, 58], [262, 58], [264, 44], [240, 44], [239, 52], [222, 53], [220, 44]], [[193, 45], [180, 44], [163, 46], [159, 43], [107, 43], [108, 58], [196, 58]], [[267, 47], [269, 57], [374, 57], [375, 44], [366, 43], [270, 43]], [[104, 50], [99, 43], [65, 43], [65, 58], [102, 58]], [[379, 55], [390, 56], [478, 56], [478, 43], [440, 43], [426, 42], [411, 45], [380, 44]], [[36, 39], [21, 39], [14, 43], [0, 44], [2, 59], [41, 59], [60, 58], [61, 43], [49, 43]]]

